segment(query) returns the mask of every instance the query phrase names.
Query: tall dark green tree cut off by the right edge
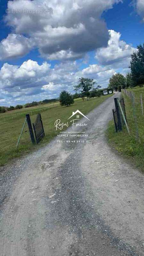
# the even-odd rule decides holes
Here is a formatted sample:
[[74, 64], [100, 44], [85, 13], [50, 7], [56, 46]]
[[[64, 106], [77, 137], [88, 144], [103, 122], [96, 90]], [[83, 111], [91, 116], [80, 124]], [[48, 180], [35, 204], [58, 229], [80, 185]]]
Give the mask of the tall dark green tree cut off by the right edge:
[[131, 73], [134, 85], [144, 83], [144, 44], [137, 46], [138, 51], [132, 54]]

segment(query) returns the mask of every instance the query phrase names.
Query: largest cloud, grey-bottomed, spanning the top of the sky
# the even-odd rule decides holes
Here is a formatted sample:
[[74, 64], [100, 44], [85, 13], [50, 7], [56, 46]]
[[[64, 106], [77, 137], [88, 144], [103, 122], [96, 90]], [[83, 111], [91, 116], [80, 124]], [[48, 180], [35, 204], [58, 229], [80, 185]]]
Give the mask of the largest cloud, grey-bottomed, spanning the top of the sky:
[[[81, 58], [86, 52], [105, 47], [109, 34], [101, 14], [121, 0], [13, 0], [8, 1], [10, 13], [5, 21], [15, 34], [26, 35], [15, 39], [19, 45], [15, 55], [9, 53], [9, 41], [5, 39], [8, 54], [3, 58], [21, 56], [30, 50], [28, 40], [46, 59], [68, 60]], [[16, 13], [16, 10], [25, 10]], [[15, 10], [15, 13], [12, 11]], [[30, 10], [36, 13], [31, 13]], [[39, 10], [39, 12], [37, 12]], [[51, 10], [51, 13], [45, 13]], [[41, 11], [41, 12], [40, 12]], [[13, 35], [13, 34], [12, 34]], [[12, 37], [12, 36], [10, 36]], [[25, 49], [24, 49], [24, 46]], [[14, 48], [14, 46], [13, 46]], [[19, 49], [20, 48], [20, 49]], [[24, 51], [25, 50], [25, 51]]]

